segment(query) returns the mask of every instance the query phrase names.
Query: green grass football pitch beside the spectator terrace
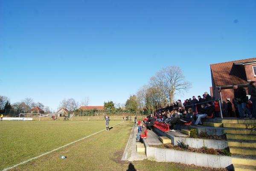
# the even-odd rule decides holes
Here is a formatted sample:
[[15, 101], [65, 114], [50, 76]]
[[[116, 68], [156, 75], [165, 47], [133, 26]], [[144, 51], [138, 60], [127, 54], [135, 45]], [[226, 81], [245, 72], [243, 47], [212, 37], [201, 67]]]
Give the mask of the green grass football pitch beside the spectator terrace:
[[[110, 126], [120, 121], [111, 121]], [[32, 157], [75, 142], [38, 159], [13, 168], [13, 171], [134, 171], [121, 157], [131, 133], [131, 123], [116, 125], [110, 131], [104, 121], [3, 121], [0, 122], [0, 171]], [[60, 156], [67, 159], [60, 159]], [[205, 171], [186, 165], [149, 160], [133, 162], [137, 171]]]

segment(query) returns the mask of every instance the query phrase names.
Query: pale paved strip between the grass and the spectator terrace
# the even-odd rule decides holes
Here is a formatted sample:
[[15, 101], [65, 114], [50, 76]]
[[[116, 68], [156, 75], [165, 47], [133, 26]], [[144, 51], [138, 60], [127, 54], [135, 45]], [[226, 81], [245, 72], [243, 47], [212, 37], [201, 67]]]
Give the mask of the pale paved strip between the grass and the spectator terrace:
[[137, 143], [141, 143], [141, 142], [136, 142], [137, 133], [138, 133], [137, 124], [134, 124], [131, 130], [131, 135], [125, 147], [122, 160], [134, 161], [134, 160], [143, 160], [147, 158], [145, 152], [137, 153]]

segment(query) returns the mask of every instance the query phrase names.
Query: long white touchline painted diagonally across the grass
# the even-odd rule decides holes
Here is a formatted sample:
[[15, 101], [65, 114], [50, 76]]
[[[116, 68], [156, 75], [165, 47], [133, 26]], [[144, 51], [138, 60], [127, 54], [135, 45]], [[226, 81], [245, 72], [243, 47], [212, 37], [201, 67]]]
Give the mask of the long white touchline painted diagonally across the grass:
[[[119, 124], [122, 124], [122, 123], [123, 123], [123, 122], [120, 122]], [[116, 124], [116, 125], [119, 125], [119, 124]], [[116, 125], [114, 125], [114, 126], [116, 126]], [[114, 126], [112, 126], [112, 127], [114, 127]], [[104, 130], [106, 130], [106, 129], [104, 129]], [[93, 136], [93, 135], [95, 135], [95, 134], [97, 134], [97, 133], [100, 133], [100, 132], [102, 132], [102, 131], [104, 131], [104, 130], [100, 130], [99, 132], [93, 133], [93, 134], [91, 134], [91, 135], [89, 135], [89, 136], [86, 136], [86, 137], [81, 138], [81, 139], [79, 139], [79, 140], [76, 140], [76, 141], [74, 141], [74, 142], [70, 142], [70, 143], [68, 143], [68, 144], [66, 144], [66, 145], [63, 145], [63, 146], [61, 146], [61, 147], [59, 147], [59, 148], [56, 148], [56, 149], [54, 149], [54, 150], [52, 150], [52, 151], [48, 151], [47, 153], [41, 154], [40, 156], [33, 157], [33, 158], [28, 159], [28, 160], [26, 160], [26, 161], [24, 161], [24, 162], [20, 162], [19, 164], [14, 165], [14, 166], [12, 166], [12, 167], [5, 168], [5, 169], [3, 169], [2, 171], [8, 171], [8, 170], [10, 170], [10, 169], [16, 168], [16, 167], [19, 166], [19, 165], [23, 165], [23, 164], [25, 164], [26, 162], [29, 162], [29, 161], [34, 160], [34, 159], [38, 159], [39, 157], [45, 156], [45, 155], [47, 155], [47, 154], [49, 154], [49, 153], [52, 153], [53, 151], [57, 151], [57, 150], [59, 150], [59, 149], [61, 149], [61, 148], [63, 148], [63, 147], [66, 147], [66, 146], [70, 145], [70, 144], [79, 142], [79, 141], [81, 141], [81, 140], [83, 140], [83, 139], [86, 139], [86, 138], [88, 138], [88, 137], [90, 137], [90, 136]]]

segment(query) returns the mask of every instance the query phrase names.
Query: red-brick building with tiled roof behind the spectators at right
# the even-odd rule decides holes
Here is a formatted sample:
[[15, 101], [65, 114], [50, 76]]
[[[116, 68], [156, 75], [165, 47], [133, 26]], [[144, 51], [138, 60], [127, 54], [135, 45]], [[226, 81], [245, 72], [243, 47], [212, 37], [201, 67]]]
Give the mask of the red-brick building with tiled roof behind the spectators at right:
[[239, 87], [247, 90], [250, 81], [256, 81], [256, 58], [211, 64], [210, 67], [211, 93], [215, 99], [221, 99], [221, 101], [230, 99], [232, 102], [234, 98], [233, 84], [238, 84]]

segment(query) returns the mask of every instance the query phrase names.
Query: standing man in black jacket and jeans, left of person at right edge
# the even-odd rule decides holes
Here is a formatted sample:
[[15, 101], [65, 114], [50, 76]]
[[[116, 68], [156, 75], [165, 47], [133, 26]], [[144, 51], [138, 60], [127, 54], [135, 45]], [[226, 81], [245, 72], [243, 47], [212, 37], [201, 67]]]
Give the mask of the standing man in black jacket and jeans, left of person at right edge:
[[249, 115], [250, 119], [252, 118], [252, 114], [250, 111], [246, 108], [246, 103], [248, 101], [247, 96], [246, 96], [246, 91], [242, 87], [238, 87], [237, 84], [233, 85], [234, 89], [234, 96], [237, 101], [237, 107], [239, 110], [240, 118], [239, 119], [244, 119], [244, 111]]

